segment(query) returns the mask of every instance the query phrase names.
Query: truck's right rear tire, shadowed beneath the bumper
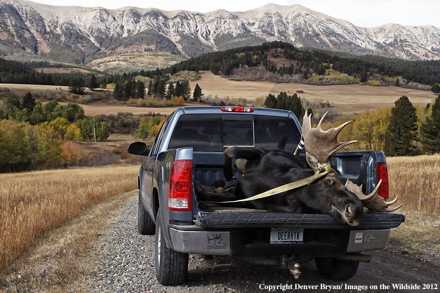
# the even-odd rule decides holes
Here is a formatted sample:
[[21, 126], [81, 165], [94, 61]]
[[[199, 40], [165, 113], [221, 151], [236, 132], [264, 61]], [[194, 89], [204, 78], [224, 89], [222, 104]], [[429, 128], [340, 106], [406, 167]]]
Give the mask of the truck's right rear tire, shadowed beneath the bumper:
[[330, 280], [348, 280], [357, 271], [358, 261], [347, 261], [331, 257], [315, 257], [315, 264], [318, 271]]

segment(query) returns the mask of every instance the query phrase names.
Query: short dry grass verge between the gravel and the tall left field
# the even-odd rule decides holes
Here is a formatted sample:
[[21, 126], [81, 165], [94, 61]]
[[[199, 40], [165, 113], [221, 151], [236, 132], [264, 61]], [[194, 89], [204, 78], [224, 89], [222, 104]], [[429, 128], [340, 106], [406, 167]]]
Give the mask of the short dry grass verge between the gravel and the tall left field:
[[0, 284], [6, 285], [2, 289], [10, 293], [92, 292], [86, 287], [93, 284], [91, 276], [101, 252], [97, 238], [107, 232], [107, 221], [136, 195], [137, 190], [132, 190], [113, 196], [44, 233], [0, 273]]

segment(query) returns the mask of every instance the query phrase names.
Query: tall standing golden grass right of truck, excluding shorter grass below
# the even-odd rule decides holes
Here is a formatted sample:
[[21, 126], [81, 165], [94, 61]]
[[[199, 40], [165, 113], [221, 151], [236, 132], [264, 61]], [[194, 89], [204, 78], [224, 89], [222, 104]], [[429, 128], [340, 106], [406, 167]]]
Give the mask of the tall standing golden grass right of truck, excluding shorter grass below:
[[440, 155], [387, 158], [390, 197], [407, 210], [440, 212]]

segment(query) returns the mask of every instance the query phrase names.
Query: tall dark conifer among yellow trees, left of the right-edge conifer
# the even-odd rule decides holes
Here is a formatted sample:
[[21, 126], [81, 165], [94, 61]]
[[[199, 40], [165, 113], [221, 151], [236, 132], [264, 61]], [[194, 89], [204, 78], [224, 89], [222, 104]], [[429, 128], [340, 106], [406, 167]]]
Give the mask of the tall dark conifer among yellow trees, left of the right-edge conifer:
[[391, 156], [414, 155], [414, 142], [417, 138], [416, 108], [407, 96], [401, 96], [394, 104], [385, 138], [385, 153]]

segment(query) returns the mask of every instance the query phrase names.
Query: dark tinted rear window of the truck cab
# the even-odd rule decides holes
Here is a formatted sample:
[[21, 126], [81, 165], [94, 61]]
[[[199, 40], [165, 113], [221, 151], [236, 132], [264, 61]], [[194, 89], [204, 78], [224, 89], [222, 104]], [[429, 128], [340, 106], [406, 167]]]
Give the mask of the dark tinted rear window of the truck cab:
[[168, 149], [192, 146], [194, 151], [223, 151], [228, 146], [284, 146], [293, 152], [301, 134], [291, 118], [241, 114], [180, 116]]

